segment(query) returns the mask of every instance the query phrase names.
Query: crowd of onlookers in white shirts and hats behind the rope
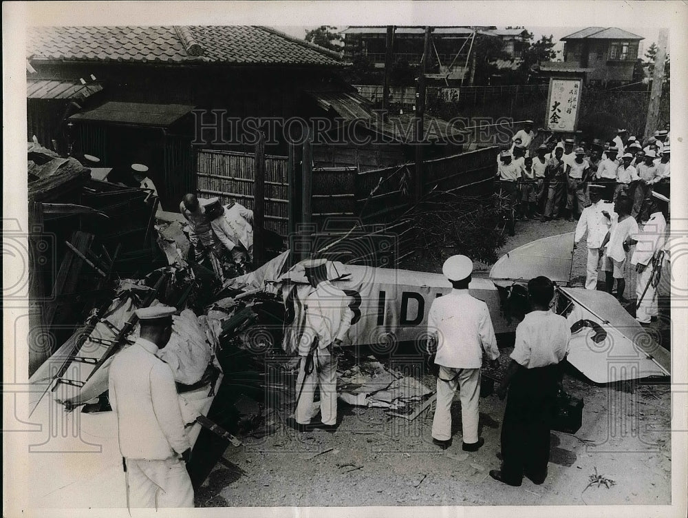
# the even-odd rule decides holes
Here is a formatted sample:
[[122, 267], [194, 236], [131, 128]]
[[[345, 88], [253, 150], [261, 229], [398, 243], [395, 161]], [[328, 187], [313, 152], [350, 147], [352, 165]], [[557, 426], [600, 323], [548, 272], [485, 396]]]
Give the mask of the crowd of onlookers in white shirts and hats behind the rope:
[[590, 142], [552, 132], [535, 147], [538, 133], [525, 121], [498, 158], [499, 191], [517, 218], [577, 219], [590, 205], [591, 183], [603, 187], [603, 200], [630, 198], [638, 221], [647, 217], [643, 208], [653, 190], [669, 195], [668, 129], [638, 138], [621, 128], [608, 141]]

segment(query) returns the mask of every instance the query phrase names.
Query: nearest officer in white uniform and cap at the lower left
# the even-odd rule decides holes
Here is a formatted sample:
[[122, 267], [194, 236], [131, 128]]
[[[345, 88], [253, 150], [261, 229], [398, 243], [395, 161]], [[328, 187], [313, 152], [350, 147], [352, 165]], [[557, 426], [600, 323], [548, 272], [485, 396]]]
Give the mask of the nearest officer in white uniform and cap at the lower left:
[[117, 414], [131, 508], [193, 507], [184, 433], [174, 375], [155, 356], [172, 334], [173, 307], [138, 309], [140, 337], [117, 353], [109, 371], [109, 400]]

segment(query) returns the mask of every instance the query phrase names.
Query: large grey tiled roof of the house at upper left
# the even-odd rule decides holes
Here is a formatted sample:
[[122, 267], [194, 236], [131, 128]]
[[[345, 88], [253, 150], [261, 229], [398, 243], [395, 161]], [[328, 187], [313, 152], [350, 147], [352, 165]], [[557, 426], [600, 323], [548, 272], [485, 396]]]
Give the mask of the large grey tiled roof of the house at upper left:
[[27, 56], [33, 61], [343, 64], [334, 52], [253, 25], [31, 28]]

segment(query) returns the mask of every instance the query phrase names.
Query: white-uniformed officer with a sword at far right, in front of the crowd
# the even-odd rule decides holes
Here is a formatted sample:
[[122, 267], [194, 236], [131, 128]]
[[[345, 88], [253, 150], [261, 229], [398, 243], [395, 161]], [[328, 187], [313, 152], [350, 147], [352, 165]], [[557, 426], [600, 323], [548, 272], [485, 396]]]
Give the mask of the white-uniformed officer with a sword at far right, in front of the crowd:
[[[653, 318], [659, 315], [657, 304], [657, 287], [653, 286], [652, 274], [663, 265], [659, 262], [660, 251], [665, 247], [667, 240], [667, 211], [669, 198], [657, 192], [652, 192], [649, 203], [649, 220], [631, 240], [631, 245], [636, 245], [631, 257], [631, 264], [636, 267], [636, 320], [641, 324], [649, 324]], [[647, 291], [645, 288], [647, 287]], [[643, 292], [645, 294], [643, 295]]]

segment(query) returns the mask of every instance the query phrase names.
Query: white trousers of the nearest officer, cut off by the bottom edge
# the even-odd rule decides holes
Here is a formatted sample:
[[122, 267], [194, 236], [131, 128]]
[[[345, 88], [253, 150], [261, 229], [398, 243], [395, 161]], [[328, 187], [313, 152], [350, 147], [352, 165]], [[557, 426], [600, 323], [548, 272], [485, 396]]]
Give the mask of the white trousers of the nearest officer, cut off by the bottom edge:
[[177, 457], [127, 459], [129, 508], [193, 507], [193, 486]]

